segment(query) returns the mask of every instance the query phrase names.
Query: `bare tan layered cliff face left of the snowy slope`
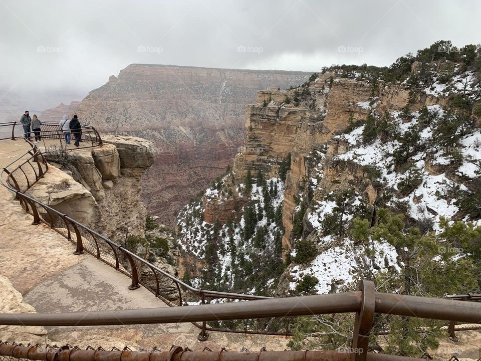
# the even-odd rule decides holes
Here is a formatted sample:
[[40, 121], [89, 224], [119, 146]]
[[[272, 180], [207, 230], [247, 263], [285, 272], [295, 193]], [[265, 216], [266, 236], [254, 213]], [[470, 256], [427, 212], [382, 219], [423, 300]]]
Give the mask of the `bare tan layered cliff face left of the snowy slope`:
[[[371, 95], [369, 84], [338, 79], [328, 90], [327, 79], [331, 75], [323, 74], [309, 87], [315, 103], [320, 104], [317, 109], [284, 104], [284, 99], [292, 96], [292, 91], [282, 94], [281, 100], [276, 90], [260, 91], [258, 102], [248, 107], [246, 149], [235, 157], [232, 170], [239, 183], [248, 170], [255, 174], [261, 169], [267, 177], [277, 176], [277, 163], [291, 154], [291, 171], [286, 177], [283, 200], [282, 217], [286, 230], [283, 246], [291, 247], [296, 199], [305, 189], [307, 174], [316, 165], [310, 163], [312, 152], [323, 150], [333, 134], [348, 125], [351, 113], [363, 119], [368, 113], [357, 103], [368, 102]], [[264, 107], [262, 102], [266, 94], [272, 102]], [[255, 149], [262, 149], [262, 152], [253, 152]]]

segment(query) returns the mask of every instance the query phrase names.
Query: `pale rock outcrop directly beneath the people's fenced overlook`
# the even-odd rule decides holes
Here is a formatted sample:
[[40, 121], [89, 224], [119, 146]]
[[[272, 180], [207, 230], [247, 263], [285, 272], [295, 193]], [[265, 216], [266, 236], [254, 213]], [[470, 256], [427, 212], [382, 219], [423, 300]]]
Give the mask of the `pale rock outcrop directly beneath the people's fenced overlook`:
[[154, 161], [153, 145], [133, 136], [102, 138], [100, 147], [70, 151], [57, 164], [64, 171], [51, 166], [28, 194], [116, 242], [127, 233], [143, 236], [142, 176]]

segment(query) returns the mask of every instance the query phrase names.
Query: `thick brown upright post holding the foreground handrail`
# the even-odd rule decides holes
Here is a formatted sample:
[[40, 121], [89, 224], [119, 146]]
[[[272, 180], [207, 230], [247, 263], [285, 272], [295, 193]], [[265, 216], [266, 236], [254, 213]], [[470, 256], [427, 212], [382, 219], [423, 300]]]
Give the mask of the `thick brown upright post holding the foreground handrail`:
[[365, 361], [369, 347], [369, 333], [374, 319], [376, 301], [375, 288], [372, 281], [361, 281], [359, 290], [362, 292], [361, 310], [356, 312], [356, 321], [352, 333], [352, 361]]

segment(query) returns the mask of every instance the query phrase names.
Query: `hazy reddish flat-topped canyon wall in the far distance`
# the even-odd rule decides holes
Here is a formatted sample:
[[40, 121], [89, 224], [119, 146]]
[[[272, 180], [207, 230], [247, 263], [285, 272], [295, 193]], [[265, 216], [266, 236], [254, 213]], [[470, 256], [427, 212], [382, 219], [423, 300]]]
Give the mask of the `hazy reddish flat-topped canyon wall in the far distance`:
[[132, 64], [70, 107], [42, 113], [55, 121], [75, 111], [103, 133], [154, 143], [156, 160], [144, 182], [144, 201], [160, 222], [177, 211], [228, 165], [245, 139], [245, 105], [259, 89], [303, 83], [305, 72], [232, 70]]

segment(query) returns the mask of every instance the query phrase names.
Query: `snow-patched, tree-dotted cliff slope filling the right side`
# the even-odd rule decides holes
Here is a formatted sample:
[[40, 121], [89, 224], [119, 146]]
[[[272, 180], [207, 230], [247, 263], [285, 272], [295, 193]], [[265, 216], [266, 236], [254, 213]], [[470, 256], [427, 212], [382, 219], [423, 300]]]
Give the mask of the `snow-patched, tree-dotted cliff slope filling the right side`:
[[354, 218], [373, 227], [388, 209], [421, 234], [441, 232], [443, 217], [481, 224], [479, 67], [406, 59], [396, 81], [394, 70], [342, 66], [258, 92], [232, 170], [179, 214], [186, 258], [211, 267], [191, 267], [193, 282], [283, 295], [305, 282], [309, 292], [351, 289], [400, 272], [406, 252], [354, 242]]

